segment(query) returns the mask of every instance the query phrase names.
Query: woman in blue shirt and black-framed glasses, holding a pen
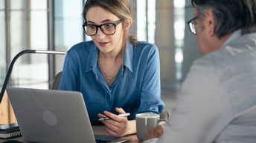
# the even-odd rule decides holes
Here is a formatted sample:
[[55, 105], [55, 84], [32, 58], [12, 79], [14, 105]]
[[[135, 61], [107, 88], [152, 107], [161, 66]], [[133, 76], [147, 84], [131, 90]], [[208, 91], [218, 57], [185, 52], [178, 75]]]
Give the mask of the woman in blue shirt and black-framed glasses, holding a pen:
[[[76, 90], [92, 124], [105, 124], [112, 136], [136, 132], [136, 113], [161, 113], [159, 51], [128, 36], [129, 0], [87, 0], [85, 33], [92, 37], [68, 50], [60, 90]], [[128, 117], [118, 114], [130, 113]], [[109, 120], [98, 121], [108, 116]]]

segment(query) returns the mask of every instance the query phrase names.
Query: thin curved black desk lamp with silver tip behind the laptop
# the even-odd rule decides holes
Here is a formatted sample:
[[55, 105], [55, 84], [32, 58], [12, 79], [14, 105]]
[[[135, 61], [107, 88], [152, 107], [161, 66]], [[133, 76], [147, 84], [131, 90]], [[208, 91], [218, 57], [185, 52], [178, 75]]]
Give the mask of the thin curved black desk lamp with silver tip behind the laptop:
[[60, 55], [65, 55], [65, 52], [63, 52], [63, 51], [50, 51], [50, 50], [22, 50], [21, 52], [19, 52], [19, 53], [13, 58], [13, 61], [11, 61], [10, 67], [9, 67], [9, 69], [8, 69], [8, 71], [7, 71], [7, 75], [5, 76], [3, 87], [1, 87], [0, 103], [1, 103], [1, 99], [2, 99], [3, 96], [4, 96], [4, 91], [5, 91], [5, 88], [7, 87], [7, 83], [8, 83], [8, 81], [9, 81], [10, 74], [12, 73], [13, 65], [14, 65], [16, 59], [18, 59], [19, 56], [22, 56], [22, 55], [25, 54], [25, 53], [46, 53], [46, 54], [60, 54]]

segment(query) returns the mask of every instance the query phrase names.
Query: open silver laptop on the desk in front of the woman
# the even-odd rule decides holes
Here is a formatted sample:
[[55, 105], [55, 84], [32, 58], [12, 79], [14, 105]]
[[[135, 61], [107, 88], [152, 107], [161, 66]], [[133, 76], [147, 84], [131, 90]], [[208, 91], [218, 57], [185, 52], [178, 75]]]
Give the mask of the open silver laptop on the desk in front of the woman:
[[[89, 142], [95, 135], [80, 92], [7, 87], [22, 137], [27, 142]], [[106, 142], [127, 138], [97, 136]]]

